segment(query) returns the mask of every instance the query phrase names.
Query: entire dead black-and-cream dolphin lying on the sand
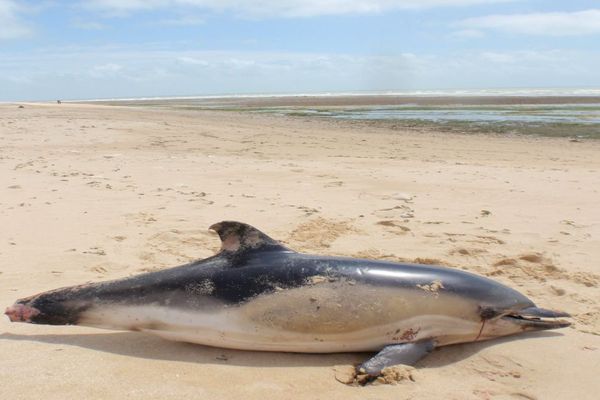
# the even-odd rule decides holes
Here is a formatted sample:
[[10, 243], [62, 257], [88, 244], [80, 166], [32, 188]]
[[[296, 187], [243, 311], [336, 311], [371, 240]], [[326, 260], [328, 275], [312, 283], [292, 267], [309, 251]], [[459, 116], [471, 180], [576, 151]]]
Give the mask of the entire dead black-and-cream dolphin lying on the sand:
[[569, 326], [519, 292], [468, 272], [297, 253], [256, 228], [224, 221], [213, 257], [18, 300], [11, 321], [144, 331], [243, 350], [379, 351], [377, 376], [435, 347]]

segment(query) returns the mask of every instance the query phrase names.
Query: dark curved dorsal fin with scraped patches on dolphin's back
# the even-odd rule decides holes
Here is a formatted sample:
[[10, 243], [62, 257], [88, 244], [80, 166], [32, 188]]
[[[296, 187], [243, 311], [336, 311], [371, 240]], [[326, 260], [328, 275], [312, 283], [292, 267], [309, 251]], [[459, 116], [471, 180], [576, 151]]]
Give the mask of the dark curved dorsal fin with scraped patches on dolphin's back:
[[220, 253], [236, 254], [258, 249], [291, 251], [275, 239], [243, 222], [221, 221], [211, 225], [209, 229], [217, 232], [221, 238]]

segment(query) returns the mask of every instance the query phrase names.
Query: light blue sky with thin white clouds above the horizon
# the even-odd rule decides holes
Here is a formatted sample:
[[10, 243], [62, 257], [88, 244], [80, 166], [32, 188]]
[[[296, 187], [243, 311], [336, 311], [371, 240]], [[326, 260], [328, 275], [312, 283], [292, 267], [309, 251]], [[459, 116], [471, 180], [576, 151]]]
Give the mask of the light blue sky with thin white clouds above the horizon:
[[0, 0], [0, 101], [600, 87], [599, 0]]

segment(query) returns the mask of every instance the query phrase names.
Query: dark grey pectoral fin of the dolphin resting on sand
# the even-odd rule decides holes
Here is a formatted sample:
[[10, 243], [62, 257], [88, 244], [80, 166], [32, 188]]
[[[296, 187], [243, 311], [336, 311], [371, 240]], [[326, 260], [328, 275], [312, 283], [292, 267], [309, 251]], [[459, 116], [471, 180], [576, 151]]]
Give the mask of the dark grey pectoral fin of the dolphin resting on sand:
[[379, 353], [357, 367], [358, 374], [379, 376], [381, 371], [392, 365], [414, 365], [435, 348], [433, 339], [419, 340], [385, 346]]

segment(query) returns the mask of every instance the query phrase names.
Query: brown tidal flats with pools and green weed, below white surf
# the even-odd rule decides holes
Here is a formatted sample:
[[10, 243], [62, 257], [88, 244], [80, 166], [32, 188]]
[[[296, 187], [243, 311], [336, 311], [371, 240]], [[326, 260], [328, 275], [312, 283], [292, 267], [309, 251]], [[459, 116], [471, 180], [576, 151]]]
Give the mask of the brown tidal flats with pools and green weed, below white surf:
[[[600, 123], [594, 122], [600, 118], [600, 97], [346, 96], [99, 101], [80, 104], [266, 113], [305, 120], [343, 120], [349, 124], [377, 125], [394, 130], [429, 129], [463, 134], [600, 139]], [[374, 116], [374, 111], [380, 116]], [[556, 111], [571, 115], [570, 120], [557, 120], [553, 114]], [[579, 115], [581, 112], [586, 112], [589, 118], [594, 119]], [[410, 115], [406, 116], [406, 113]], [[449, 118], [448, 113], [458, 113], [459, 116]], [[481, 113], [487, 114], [492, 120], [481, 119], [478, 115]], [[521, 118], [516, 119], [515, 114], [520, 114]], [[546, 120], [540, 119], [540, 115], [546, 115]]]

